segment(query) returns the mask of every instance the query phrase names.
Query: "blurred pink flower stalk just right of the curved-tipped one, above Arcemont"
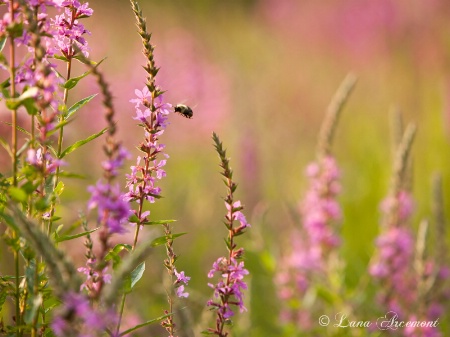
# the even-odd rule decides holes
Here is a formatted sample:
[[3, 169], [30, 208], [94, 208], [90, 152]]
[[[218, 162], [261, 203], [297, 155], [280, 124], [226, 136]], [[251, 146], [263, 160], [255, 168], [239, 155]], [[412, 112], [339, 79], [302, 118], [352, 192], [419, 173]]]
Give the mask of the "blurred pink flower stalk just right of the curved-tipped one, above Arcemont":
[[391, 190], [381, 204], [382, 232], [376, 240], [377, 253], [369, 272], [381, 282], [379, 301], [383, 307], [404, 317], [414, 301], [417, 286], [410, 267], [414, 257], [414, 237], [409, 227], [413, 211], [410, 192], [405, 188], [405, 177], [416, 128], [409, 125], [397, 146]]

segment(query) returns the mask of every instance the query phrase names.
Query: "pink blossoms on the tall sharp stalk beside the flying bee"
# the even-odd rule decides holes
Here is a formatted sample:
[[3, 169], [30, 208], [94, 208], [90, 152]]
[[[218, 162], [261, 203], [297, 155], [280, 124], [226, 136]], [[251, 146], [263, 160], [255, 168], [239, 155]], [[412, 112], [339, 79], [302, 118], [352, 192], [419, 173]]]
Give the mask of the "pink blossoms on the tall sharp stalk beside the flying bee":
[[147, 87], [135, 91], [137, 98], [130, 100], [135, 104], [135, 120], [141, 122], [145, 129], [145, 139], [139, 145], [139, 149], [145, 153], [139, 156], [135, 166], [131, 166], [131, 173], [127, 175], [128, 193], [126, 200], [141, 203], [144, 199], [153, 203], [155, 198], [161, 194], [161, 188], [156, 186], [158, 180], [166, 176], [163, 167], [166, 165], [165, 159], [157, 159], [158, 155], [168, 158], [163, 153], [164, 144], [158, 142], [158, 137], [164, 133], [167, 125], [167, 118], [172, 107], [169, 103], [163, 103], [162, 96], [158, 96], [154, 111], [150, 109], [151, 93]]

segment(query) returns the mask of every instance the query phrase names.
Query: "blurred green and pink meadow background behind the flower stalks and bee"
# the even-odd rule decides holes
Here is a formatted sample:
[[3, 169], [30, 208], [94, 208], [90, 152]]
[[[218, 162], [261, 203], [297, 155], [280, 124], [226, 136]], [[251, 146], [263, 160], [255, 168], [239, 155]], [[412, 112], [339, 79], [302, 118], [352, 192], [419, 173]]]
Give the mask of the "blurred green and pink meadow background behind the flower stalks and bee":
[[[355, 91], [339, 122], [334, 153], [342, 168], [344, 209], [342, 253], [349, 287], [365, 273], [378, 233], [379, 202], [391, 171], [389, 111], [397, 107], [418, 134], [413, 150], [416, 227], [431, 216], [431, 176], [441, 172], [450, 214], [450, 3], [446, 0], [141, 0], [161, 67], [159, 84], [167, 101], [185, 103], [192, 120], [170, 117], [161, 138], [170, 155], [164, 198], [151, 205], [151, 217], [177, 219], [179, 269], [192, 277], [182, 320], [199, 322], [210, 296], [206, 277], [225, 254], [216, 131], [228, 148], [237, 197], [252, 228], [239, 238], [250, 270], [247, 308], [234, 336], [281, 336], [273, 273], [289, 231], [290, 212], [303, 195], [304, 168], [314, 159], [320, 123], [339, 83], [352, 71]], [[124, 0], [94, 0], [85, 24], [91, 57], [102, 64], [115, 93], [119, 134], [134, 155], [142, 139], [128, 101], [142, 89], [145, 59], [134, 17]], [[76, 71], [83, 69], [76, 68]], [[91, 81], [72, 102], [98, 92]], [[67, 128], [66, 143], [105, 125], [99, 99]], [[75, 127], [76, 124], [76, 127]], [[100, 176], [102, 140], [68, 158], [71, 172], [85, 181], [67, 182], [62, 200], [66, 219], [85, 210], [86, 187]], [[129, 165], [134, 164], [134, 160]], [[125, 171], [126, 172], [126, 171]], [[65, 222], [70, 224], [71, 220]], [[150, 235], [149, 230], [147, 235]], [[144, 232], [145, 232], [144, 231]], [[131, 233], [131, 232], [130, 232]], [[132, 234], [126, 237], [130, 240]], [[144, 239], [144, 237], [142, 237]], [[121, 238], [117, 238], [118, 241]], [[83, 248], [80, 239], [78, 259]], [[74, 244], [72, 244], [74, 245]], [[80, 248], [81, 247], [81, 248]], [[162, 314], [160, 280], [163, 249], [147, 263], [145, 280], [127, 301], [129, 324]], [[5, 257], [3, 257], [5, 260]], [[156, 297], [155, 297], [156, 296]], [[182, 324], [179, 322], [179, 324]], [[205, 326], [202, 326], [203, 328]], [[159, 335], [163, 335], [161, 330]], [[136, 336], [147, 336], [143, 331]], [[186, 333], [186, 336], [189, 334]]]

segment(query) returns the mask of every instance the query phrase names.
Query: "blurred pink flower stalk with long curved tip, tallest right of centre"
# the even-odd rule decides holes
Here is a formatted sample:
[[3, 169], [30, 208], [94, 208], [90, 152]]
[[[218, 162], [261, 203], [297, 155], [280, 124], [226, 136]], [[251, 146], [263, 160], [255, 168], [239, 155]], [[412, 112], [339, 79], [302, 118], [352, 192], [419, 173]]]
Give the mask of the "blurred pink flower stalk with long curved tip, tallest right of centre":
[[355, 83], [356, 77], [349, 74], [328, 106], [319, 134], [317, 159], [306, 169], [308, 188], [300, 203], [302, 228], [290, 235], [291, 251], [283, 256], [276, 275], [278, 295], [285, 303], [281, 319], [302, 330], [314, 326], [313, 308], [299, 304], [304, 302], [302, 299], [323, 283], [333, 291], [341, 290], [330, 281], [330, 274], [342, 267], [336, 251], [341, 244], [338, 227], [341, 207], [337, 200], [341, 189], [340, 170], [331, 145], [342, 108]]

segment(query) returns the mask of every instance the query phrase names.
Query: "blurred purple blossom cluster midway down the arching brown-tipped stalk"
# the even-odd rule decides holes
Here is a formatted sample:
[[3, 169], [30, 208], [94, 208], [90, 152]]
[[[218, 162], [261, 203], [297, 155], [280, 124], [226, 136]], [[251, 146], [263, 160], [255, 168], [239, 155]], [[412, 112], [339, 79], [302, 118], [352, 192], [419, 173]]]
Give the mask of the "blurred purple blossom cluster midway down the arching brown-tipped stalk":
[[95, 186], [89, 186], [88, 191], [91, 193], [88, 209], [98, 209], [98, 222], [105, 224], [110, 234], [125, 233], [131, 211], [119, 185], [98, 181]]

